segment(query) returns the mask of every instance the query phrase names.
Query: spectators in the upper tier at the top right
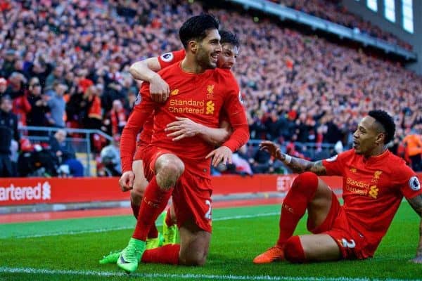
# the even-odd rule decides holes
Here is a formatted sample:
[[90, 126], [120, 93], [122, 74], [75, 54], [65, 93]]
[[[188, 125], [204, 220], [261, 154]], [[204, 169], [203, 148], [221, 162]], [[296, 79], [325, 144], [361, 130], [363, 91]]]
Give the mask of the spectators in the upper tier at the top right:
[[280, 3], [288, 8], [314, 15], [324, 20], [344, 25], [345, 27], [352, 28], [355, 32], [367, 34], [371, 37], [383, 39], [391, 44], [396, 44], [411, 50], [411, 44], [400, 40], [395, 35], [381, 30], [380, 27], [371, 24], [368, 20], [364, 20], [359, 15], [350, 13], [347, 8], [343, 6], [338, 0], [271, 0], [275, 3]]

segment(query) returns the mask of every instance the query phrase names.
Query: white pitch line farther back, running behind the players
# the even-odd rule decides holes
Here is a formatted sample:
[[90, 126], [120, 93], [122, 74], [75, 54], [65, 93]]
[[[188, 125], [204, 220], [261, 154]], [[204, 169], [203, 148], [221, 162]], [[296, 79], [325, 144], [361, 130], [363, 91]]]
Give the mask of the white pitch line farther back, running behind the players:
[[[259, 218], [261, 216], [275, 216], [275, 215], [279, 215], [279, 214], [280, 214], [279, 212], [272, 212], [272, 213], [263, 213], [263, 214], [253, 214], [253, 215], [226, 216], [226, 217], [222, 217], [222, 218], [213, 218], [212, 221], [229, 221], [229, 220], [232, 220], [232, 219], [239, 219], [239, 218]], [[158, 223], [158, 226], [160, 226], [160, 225], [161, 224]], [[83, 234], [83, 233], [105, 233], [107, 231], [127, 230], [127, 229], [134, 229], [134, 226], [121, 226], [121, 227], [117, 227], [117, 228], [100, 228], [100, 229], [92, 229], [92, 230], [69, 230], [69, 231], [60, 231], [60, 232], [56, 232], [56, 233], [1, 237], [0, 239], [37, 238], [37, 237], [59, 236], [59, 235], [77, 235], [77, 234]]]

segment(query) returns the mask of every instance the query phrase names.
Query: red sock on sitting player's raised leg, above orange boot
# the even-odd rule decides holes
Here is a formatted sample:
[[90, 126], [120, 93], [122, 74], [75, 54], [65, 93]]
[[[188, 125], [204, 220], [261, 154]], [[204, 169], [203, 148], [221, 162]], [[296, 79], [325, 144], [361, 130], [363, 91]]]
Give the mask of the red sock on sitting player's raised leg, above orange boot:
[[292, 187], [281, 205], [280, 233], [277, 241], [279, 246], [283, 247], [286, 240], [293, 235], [298, 221], [305, 214], [307, 204], [314, 198], [317, 188], [318, 177], [310, 172], [300, 174], [293, 181]]

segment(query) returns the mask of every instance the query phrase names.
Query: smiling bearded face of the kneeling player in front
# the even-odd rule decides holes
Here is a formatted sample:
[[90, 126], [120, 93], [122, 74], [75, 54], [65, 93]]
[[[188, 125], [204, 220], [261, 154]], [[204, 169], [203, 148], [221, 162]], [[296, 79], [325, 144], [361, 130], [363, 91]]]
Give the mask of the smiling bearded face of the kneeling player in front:
[[196, 60], [204, 69], [217, 67], [218, 55], [222, 52], [220, 38], [218, 30], [209, 30], [207, 37], [199, 42]]

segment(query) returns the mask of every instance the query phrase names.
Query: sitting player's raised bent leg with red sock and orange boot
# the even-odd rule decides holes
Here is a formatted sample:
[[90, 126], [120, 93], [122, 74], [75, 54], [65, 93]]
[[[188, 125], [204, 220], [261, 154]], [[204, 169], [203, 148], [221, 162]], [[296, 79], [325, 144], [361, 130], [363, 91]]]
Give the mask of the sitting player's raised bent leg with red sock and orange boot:
[[298, 221], [309, 211], [309, 224], [319, 226], [331, 208], [332, 191], [313, 173], [300, 174], [281, 206], [279, 239], [274, 247], [255, 257], [254, 263], [271, 263], [284, 259], [283, 247], [293, 235]]

